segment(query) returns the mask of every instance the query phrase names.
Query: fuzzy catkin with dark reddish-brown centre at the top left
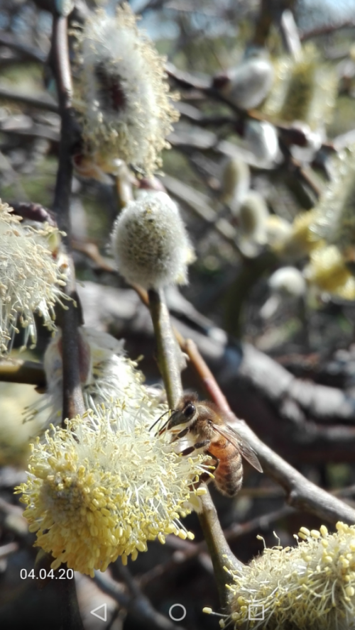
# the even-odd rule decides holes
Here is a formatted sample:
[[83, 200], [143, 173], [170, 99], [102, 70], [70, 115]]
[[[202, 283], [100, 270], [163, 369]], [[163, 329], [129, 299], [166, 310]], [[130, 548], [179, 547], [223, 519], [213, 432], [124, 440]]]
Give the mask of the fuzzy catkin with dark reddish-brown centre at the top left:
[[151, 174], [178, 119], [170, 104], [163, 62], [139, 31], [128, 4], [116, 16], [98, 10], [74, 31], [77, 40], [74, 107], [84, 153], [103, 170], [116, 158]]

